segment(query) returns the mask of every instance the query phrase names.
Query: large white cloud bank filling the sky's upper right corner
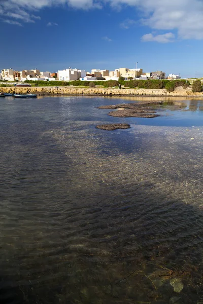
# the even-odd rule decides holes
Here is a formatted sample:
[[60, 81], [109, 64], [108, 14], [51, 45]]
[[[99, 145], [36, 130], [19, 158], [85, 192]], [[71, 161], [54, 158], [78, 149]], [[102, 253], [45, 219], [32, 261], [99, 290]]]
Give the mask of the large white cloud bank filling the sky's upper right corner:
[[157, 30], [177, 30], [180, 39], [203, 39], [202, 0], [110, 0], [112, 6], [128, 5], [143, 14], [141, 24]]

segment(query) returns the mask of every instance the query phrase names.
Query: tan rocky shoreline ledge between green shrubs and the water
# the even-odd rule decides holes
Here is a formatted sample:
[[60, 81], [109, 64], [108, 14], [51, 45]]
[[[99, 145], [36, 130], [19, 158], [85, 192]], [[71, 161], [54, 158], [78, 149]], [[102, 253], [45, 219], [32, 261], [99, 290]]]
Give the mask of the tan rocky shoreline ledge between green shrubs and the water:
[[78, 88], [78, 87], [6, 87], [1, 92], [13, 94], [38, 95], [106, 95], [106, 96], [174, 96], [174, 97], [203, 97], [202, 93], [192, 93], [191, 88], [177, 88], [174, 92], [165, 89], [114, 89], [114, 88]]

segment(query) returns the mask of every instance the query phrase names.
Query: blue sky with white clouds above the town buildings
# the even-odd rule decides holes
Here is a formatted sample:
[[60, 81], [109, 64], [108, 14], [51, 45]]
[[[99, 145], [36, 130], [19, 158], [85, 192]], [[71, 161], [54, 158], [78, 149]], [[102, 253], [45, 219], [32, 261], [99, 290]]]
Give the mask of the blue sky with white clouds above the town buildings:
[[203, 77], [203, 0], [0, 0], [0, 69]]

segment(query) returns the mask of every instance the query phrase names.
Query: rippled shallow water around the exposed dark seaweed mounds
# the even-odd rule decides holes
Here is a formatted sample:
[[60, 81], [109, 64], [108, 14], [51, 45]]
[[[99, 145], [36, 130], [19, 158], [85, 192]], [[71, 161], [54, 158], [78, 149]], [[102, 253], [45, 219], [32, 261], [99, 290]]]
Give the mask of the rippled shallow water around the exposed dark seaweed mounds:
[[201, 303], [203, 101], [157, 99], [1, 100], [1, 303]]

